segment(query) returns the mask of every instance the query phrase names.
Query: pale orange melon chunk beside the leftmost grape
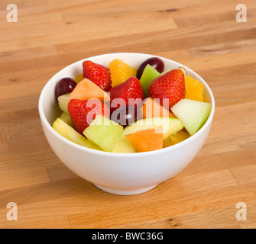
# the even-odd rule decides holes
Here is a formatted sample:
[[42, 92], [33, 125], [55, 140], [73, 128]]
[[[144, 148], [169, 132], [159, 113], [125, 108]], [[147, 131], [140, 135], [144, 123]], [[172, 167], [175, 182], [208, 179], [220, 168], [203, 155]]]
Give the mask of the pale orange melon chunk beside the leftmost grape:
[[69, 101], [71, 99], [89, 100], [93, 98], [99, 99], [102, 102], [110, 101], [109, 95], [102, 88], [85, 78], [70, 93]]

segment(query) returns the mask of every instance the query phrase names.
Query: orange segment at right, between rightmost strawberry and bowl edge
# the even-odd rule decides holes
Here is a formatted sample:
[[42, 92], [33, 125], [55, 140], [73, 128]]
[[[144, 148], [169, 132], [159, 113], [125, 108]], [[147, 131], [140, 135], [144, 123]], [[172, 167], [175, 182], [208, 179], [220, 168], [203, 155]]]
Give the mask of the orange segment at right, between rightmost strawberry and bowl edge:
[[193, 79], [190, 75], [186, 76], [186, 95], [185, 98], [203, 101], [203, 85], [197, 79]]

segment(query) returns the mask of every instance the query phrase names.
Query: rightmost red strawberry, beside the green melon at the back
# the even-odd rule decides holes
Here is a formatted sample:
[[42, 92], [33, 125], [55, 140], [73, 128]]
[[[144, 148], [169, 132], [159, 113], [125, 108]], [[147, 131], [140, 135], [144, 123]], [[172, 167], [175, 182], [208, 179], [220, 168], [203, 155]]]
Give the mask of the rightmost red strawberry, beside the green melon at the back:
[[[152, 98], [160, 98], [164, 107], [173, 107], [178, 101], [185, 98], [185, 77], [180, 69], [173, 69], [164, 75], [158, 76], [148, 88]], [[167, 102], [164, 98], [169, 99]]]

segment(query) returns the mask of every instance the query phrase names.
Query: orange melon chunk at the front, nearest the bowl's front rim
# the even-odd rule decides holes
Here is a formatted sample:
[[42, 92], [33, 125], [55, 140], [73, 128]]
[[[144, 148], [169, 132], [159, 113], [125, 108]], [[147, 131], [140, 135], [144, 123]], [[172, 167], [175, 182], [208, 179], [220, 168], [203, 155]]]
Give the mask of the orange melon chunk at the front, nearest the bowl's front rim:
[[[158, 128], [159, 129], [159, 128]], [[163, 133], [156, 133], [159, 130], [139, 130], [126, 135], [126, 139], [134, 146], [137, 152], [149, 152], [162, 149], [164, 146]]]

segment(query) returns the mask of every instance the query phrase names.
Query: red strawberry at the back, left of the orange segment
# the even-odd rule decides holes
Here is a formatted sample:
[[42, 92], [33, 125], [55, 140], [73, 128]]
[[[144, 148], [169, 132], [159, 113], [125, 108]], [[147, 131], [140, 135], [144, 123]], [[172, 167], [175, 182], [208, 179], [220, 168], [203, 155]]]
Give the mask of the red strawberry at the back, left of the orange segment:
[[84, 61], [83, 78], [87, 78], [96, 85], [99, 85], [99, 87], [105, 92], [109, 92], [109, 90], [112, 88], [110, 70], [101, 64], [93, 63], [89, 60]]

